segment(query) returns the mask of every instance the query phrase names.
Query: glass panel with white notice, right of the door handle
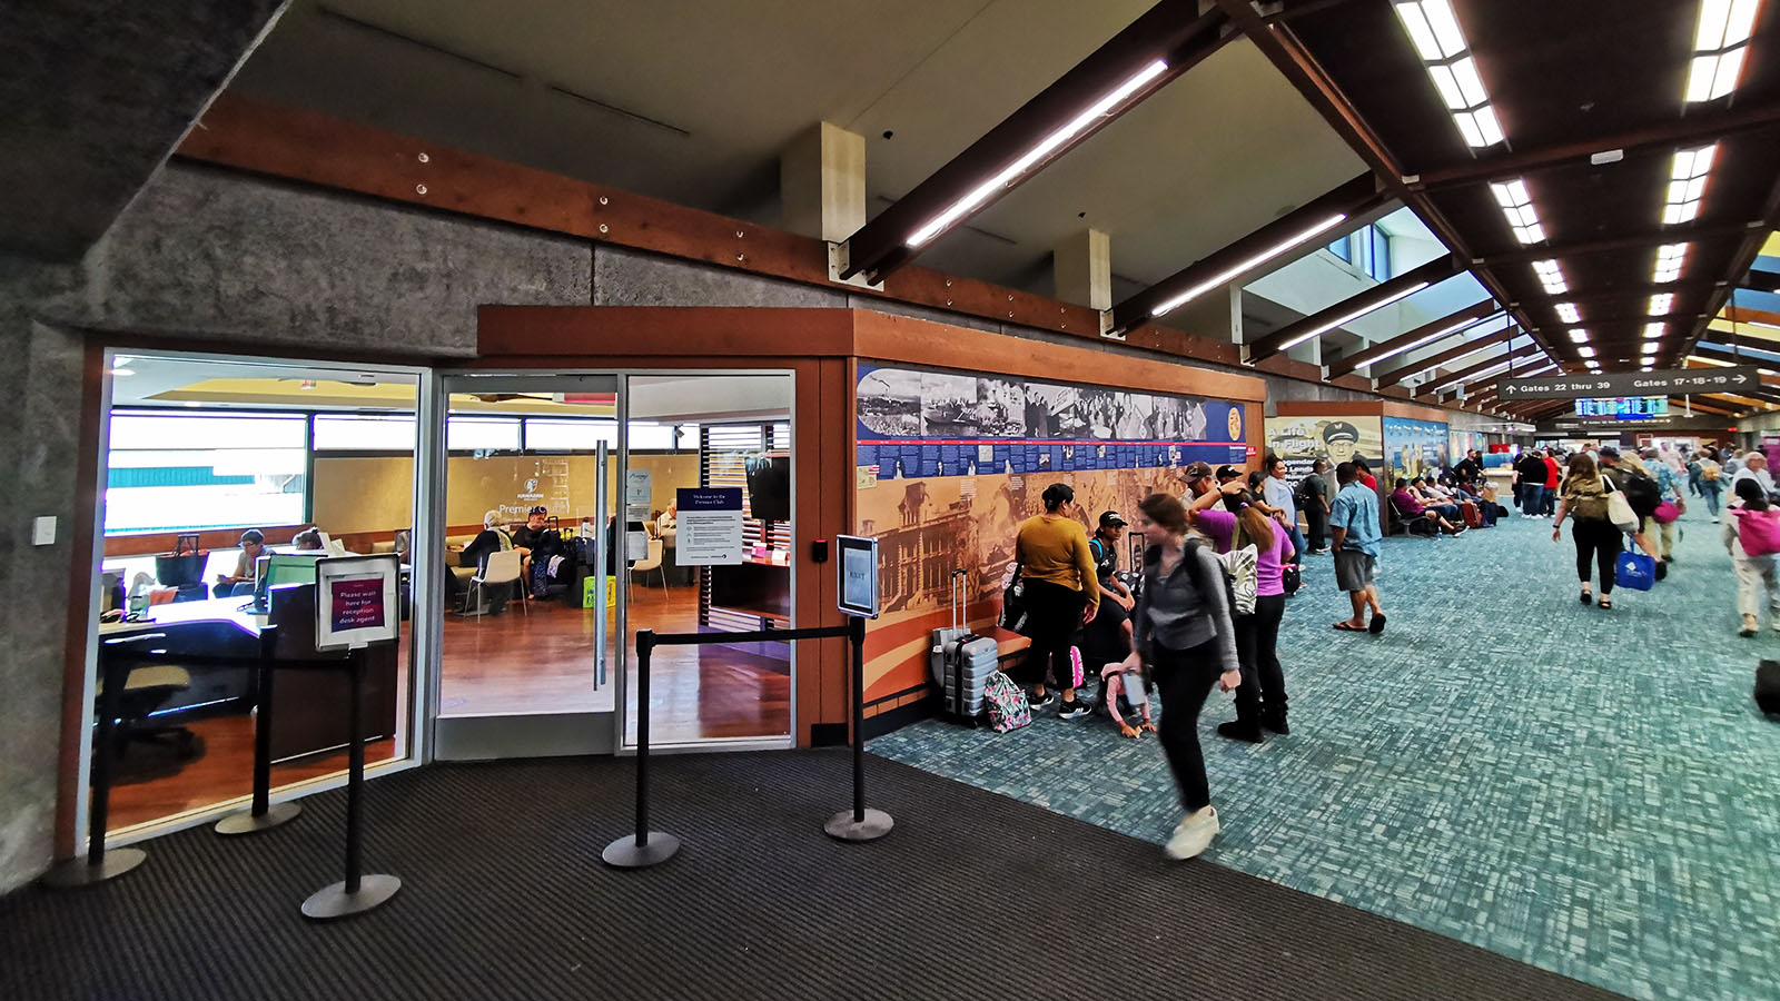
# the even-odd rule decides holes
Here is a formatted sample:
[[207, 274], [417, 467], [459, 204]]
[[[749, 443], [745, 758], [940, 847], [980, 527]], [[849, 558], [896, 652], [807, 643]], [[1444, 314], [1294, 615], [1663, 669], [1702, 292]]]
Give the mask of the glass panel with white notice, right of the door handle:
[[[755, 632], [796, 623], [792, 388], [789, 372], [625, 378], [625, 748], [637, 732], [639, 629]], [[792, 679], [790, 643], [655, 647], [650, 743], [790, 746]]]

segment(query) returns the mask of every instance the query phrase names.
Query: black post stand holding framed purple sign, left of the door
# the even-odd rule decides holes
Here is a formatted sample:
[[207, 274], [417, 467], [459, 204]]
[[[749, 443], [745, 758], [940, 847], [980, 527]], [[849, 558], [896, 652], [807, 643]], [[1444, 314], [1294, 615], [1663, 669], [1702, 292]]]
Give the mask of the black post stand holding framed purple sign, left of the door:
[[349, 771], [345, 785], [345, 878], [329, 883], [303, 901], [303, 916], [333, 921], [363, 914], [386, 903], [402, 880], [390, 875], [363, 875], [365, 826], [365, 650], [395, 643], [400, 631], [397, 556], [349, 556], [315, 565], [315, 648], [345, 648], [351, 677], [347, 720]]

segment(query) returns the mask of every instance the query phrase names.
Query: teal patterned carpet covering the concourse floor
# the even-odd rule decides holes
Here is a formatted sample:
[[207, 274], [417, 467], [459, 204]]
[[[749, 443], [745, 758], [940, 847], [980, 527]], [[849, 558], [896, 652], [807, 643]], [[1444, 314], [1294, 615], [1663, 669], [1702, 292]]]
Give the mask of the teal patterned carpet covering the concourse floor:
[[[1518, 515], [1385, 540], [1390, 629], [1339, 634], [1312, 557], [1280, 659], [1292, 734], [1200, 720], [1223, 834], [1205, 859], [1632, 997], [1780, 997], [1780, 723], [1750, 698], [1780, 632], [1737, 636], [1718, 525], [1666, 582], [1577, 602], [1574, 549]], [[1105, 716], [997, 736], [927, 720], [878, 755], [1161, 842], [1153, 736]]]

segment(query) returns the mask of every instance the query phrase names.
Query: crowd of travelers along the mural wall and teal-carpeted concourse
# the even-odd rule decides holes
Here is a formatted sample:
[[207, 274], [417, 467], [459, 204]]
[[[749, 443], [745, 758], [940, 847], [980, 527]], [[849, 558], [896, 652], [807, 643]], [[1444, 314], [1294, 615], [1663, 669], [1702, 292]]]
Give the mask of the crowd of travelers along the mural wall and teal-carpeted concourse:
[[[1743, 634], [1755, 634], [1760, 606], [1780, 631], [1780, 497], [1760, 452], [1531, 449], [1508, 470], [1522, 518], [1550, 520], [1552, 540], [1570, 522], [1582, 604], [1613, 609], [1625, 540], [1664, 579], [1675, 518], [1695, 497], [1712, 524], [1723, 515]], [[1235, 718], [1218, 725], [1219, 736], [1260, 743], [1290, 732], [1278, 636], [1299, 563], [1333, 554], [1335, 584], [1353, 609], [1335, 631], [1376, 636], [1387, 625], [1374, 582], [1387, 531], [1456, 538], [1509, 515], [1476, 451], [1451, 467], [1396, 476], [1388, 492], [1360, 458], [1333, 470], [1317, 460], [1298, 483], [1271, 454], [1250, 476], [1194, 461], [1184, 481], [1178, 497], [1146, 497], [1136, 524], [1102, 511], [1093, 536], [1068, 484], [1045, 490], [1043, 513], [1020, 525], [1015, 545], [1031, 648], [1011, 671], [1032, 709], [1056, 704], [1064, 720], [1100, 711], [1123, 737], [1159, 734], [1184, 809], [1164, 844], [1177, 860], [1203, 853], [1219, 830], [1198, 737], [1212, 689], [1234, 695]], [[1127, 529], [1145, 549], [1141, 565], [1120, 574]], [[1161, 727], [1150, 716], [1152, 688]]]

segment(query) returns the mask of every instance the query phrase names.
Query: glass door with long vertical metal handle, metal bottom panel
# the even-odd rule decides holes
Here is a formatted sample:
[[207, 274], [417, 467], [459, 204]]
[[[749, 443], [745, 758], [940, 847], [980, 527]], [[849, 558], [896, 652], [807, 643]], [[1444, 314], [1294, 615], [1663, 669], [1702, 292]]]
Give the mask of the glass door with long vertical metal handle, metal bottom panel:
[[447, 761], [614, 746], [618, 378], [441, 379], [445, 556], [438, 721]]

